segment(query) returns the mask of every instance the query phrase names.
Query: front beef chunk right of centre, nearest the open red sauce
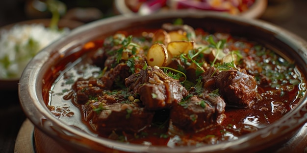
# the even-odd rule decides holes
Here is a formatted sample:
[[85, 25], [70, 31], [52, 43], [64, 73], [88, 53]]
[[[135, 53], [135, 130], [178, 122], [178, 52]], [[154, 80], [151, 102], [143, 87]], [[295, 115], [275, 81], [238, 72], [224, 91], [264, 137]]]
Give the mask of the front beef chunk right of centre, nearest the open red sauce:
[[171, 109], [172, 124], [184, 131], [201, 131], [219, 125], [225, 118], [225, 102], [220, 96], [201, 99], [192, 96]]

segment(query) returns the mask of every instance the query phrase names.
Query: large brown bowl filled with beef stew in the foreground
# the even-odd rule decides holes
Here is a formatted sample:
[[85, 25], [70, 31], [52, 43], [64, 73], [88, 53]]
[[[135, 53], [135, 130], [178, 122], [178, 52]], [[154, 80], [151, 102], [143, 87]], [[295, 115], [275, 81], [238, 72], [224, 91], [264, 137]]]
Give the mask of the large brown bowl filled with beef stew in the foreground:
[[46, 153], [273, 153], [307, 121], [306, 44], [216, 12], [120, 15], [36, 54], [19, 98]]

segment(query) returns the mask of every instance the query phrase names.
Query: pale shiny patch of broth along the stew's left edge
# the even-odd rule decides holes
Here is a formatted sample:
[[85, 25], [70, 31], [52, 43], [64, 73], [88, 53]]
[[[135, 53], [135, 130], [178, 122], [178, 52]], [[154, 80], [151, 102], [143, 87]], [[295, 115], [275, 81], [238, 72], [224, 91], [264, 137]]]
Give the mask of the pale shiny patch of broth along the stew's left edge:
[[97, 135], [92, 129], [88, 128], [86, 122], [82, 120], [84, 118], [84, 114], [81, 113], [82, 110], [73, 103], [72, 83], [76, 82], [78, 78], [89, 78], [97, 75], [101, 68], [90, 65], [85, 56], [66, 67], [51, 86], [48, 108], [55, 117], [64, 123], [89, 134]]

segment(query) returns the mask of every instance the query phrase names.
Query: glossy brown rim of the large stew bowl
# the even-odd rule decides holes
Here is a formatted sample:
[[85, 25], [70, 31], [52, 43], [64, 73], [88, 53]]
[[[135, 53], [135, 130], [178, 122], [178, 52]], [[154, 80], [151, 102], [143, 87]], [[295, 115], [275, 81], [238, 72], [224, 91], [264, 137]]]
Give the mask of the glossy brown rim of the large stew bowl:
[[[261, 129], [254, 133], [243, 135], [238, 140], [224, 141], [216, 145], [205, 145], [203, 147], [191, 146], [191, 147], [179, 147], [179, 148], [174, 149], [174, 148], [169, 148], [169, 147], [156, 147], [156, 146], [148, 147], [148, 146], [137, 145], [137, 144], [125, 144], [125, 143], [119, 143], [119, 142], [112, 141], [112, 140], [102, 138], [102, 137], [95, 137], [88, 133], [80, 132], [80, 130], [78, 129], [69, 127], [66, 123], [63, 123], [62, 121], [56, 119], [51, 114], [49, 109], [47, 109], [46, 104], [43, 101], [42, 87], [41, 87], [43, 75], [40, 75], [40, 74], [42, 72], [41, 70], [45, 68], [44, 64], [47, 61], [50, 61], [49, 56], [50, 56], [50, 52], [53, 47], [56, 47], [58, 45], [63, 45], [63, 42], [65, 42], [65, 40], [73, 38], [74, 36], [77, 36], [78, 34], [84, 31], [88, 31], [95, 26], [105, 25], [105, 24], [119, 22], [119, 21], [135, 22], [137, 20], [146, 21], [148, 19], [154, 20], [154, 19], [159, 19], [159, 18], [171, 18], [171, 17], [174, 17], [174, 18], [176, 17], [177, 18], [178, 17], [182, 17], [182, 18], [184, 17], [191, 17], [191, 18], [214, 17], [214, 18], [221, 18], [221, 19], [226, 19], [226, 20], [233, 20], [235, 22], [248, 23], [248, 24], [260, 27], [260, 28], [265, 28], [266, 30], [275, 33], [277, 38], [283, 41], [287, 41], [290, 47], [295, 48], [295, 50], [297, 50], [300, 54], [302, 54], [302, 56], [305, 57], [303, 61], [304, 63], [307, 63], [307, 42], [304, 41], [302, 38], [288, 32], [287, 30], [284, 30], [268, 22], [255, 20], [255, 19], [247, 20], [243, 18], [236, 18], [233, 16], [225, 16], [225, 15], [214, 13], [214, 12], [199, 12], [199, 11], [194, 11], [194, 10], [187, 10], [187, 11], [182, 11], [182, 12], [174, 11], [174, 12], [169, 12], [168, 14], [157, 13], [157, 14], [148, 15], [148, 16], [127, 17], [124, 15], [119, 15], [119, 16], [103, 19], [100, 21], [91, 22], [91, 23], [82, 25], [80, 27], [77, 27], [70, 34], [62, 37], [61, 39], [57, 40], [56, 42], [52, 43], [51, 45], [43, 49], [29, 62], [29, 64], [26, 66], [26, 69], [24, 70], [22, 77], [20, 79], [19, 90], [18, 90], [20, 103], [21, 103], [22, 108], [24, 109], [26, 116], [35, 125], [36, 128], [40, 129], [41, 131], [43, 131], [44, 133], [46, 133], [47, 135], [55, 139], [58, 138], [58, 135], [57, 135], [58, 133], [52, 132], [50, 127], [48, 127], [49, 125], [65, 130], [65, 132], [69, 134], [74, 134], [75, 135], [74, 137], [91, 140], [96, 143], [99, 143], [100, 145], [104, 147], [111, 146], [111, 148], [113, 149], [118, 149], [121, 151], [128, 151], [128, 152], [156, 152], [156, 151], [159, 151], [159, 152], [165, 152], [165, 153], [167, 152], [199, 153], [199, 152], [203, 152], [204, 149], [207, 152], [215, 152], [215, 151], [226, 150], [226, 149], [240, 151], [242, 149], [247, 149], [249, 145], [247, 140], [256, 139], [256, 138], [259, 139], [259, 137], [257, 137], [257, 135], [259, 134], [262, 137], [266, 137], [266, 139], [259, 139], [261, 143], [254, 145], [254, 147], [259, 147], [260, 149], [261, 148], [260, 145], [269, 143], [273, 139], [281, 138], [288, 132], [296, 131], [306, 123], [307, 113], [301, 114], [302, 111], [307, 112], [307, 100], [306, 100], [307, 95], [305, 94], [301, 100], [302, 102], [296, 107], [296, 110], [300, 110], [299, 112], [291, 110], [290, 112], [285, 114], [280, 120], [274, 122], [268, 127]], [[280, 31], [283, 31], [283, 32], [280, 32]], [[80, 40], [80, 39], [85, 39], [85, 38], [77, 38], [77, 39]], [[72, 43], [65, 44], [66, 49], [72, 47], [74, 45], [73, 44], [74, 41], [76, 41], [76, 38], [73, 39]], [[62, 52], [64, 51], [65, 51], [65, 48], [59, 49], [56, 52], [58, 54], [62, 54]], [[295, 121], [291, 123], [293, 127], [289, 127], [281, 131], [280, 126], [285, 125], [289, 119], [293, 119], [293, 118], [300, 118], [300, 119], [295, 119]], [[45, 119], [47, 119], [47, 121]], [[42, 122], [46, 122], [46, 123], [43, 124]], [[278, 134], [272, 133], [272, 131], [273, 132], [278, 131], [279, 133]], [[271, 137], [267, 137], [268, 134], [271, 134]], [[90, 146], [86, 146], [85, 144], [79, 144], [79, 142], [77, 141], [71, 141], [71, 143], [74, 143], [81, 147], [90, 148]], [[137, 150], [135, 150], [136, 147], [137, 147]]]

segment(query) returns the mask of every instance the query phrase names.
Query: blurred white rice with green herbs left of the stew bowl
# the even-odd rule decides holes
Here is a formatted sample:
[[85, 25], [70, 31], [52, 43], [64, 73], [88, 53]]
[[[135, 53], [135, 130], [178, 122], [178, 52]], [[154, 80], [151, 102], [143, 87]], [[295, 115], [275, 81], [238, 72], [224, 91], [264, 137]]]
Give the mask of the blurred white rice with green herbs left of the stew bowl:
[[[36, 53], [69, 31], [68, 28], [51, 30], [37, 23], [16, 24], [9, 30], [1, 30], [0, 79], [19, 79]], [[31, 42], [35, 47], [30, 47]]]

